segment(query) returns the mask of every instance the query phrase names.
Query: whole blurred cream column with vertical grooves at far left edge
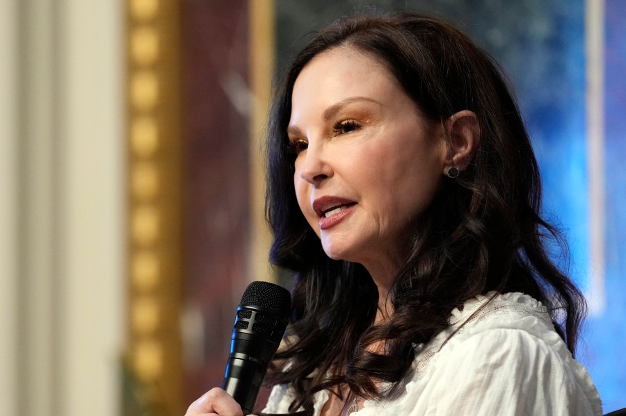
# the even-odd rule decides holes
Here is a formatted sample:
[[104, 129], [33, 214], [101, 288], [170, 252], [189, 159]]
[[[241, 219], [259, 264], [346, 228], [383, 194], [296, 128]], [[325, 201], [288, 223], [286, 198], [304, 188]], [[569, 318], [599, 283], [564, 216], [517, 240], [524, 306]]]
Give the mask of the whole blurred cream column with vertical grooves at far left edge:
[[0, 415], [120, 414], [122, 6], [0, 0]]

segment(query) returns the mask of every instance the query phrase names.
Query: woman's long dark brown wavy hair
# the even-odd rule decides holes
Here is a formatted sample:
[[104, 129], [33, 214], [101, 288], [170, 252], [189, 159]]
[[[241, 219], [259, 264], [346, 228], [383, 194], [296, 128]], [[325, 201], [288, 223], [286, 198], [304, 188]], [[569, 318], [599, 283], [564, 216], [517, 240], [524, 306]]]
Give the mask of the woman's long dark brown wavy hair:
[[[390, 292], [394, 313], [377, 325], [378, 291], [367, 270], [326, 256], [294, 191], [287, 138], [291, 92], [314, 56], [337, 47], [386, 65], [431, 122], [471, 110], [481, 126], [472, 163], [458, 178], [446, 178], [431, 206], [407, 227], [406, 257]], [[431, 340], [449, 326], [452, 309], [492, 290], [523, 292], [544, 303], [574, 352], [584, 298], [549, 256], [549, 242], [561, 244], [564, 253], [567, 248], [540, 216], [531, 143], [513, 94], [487, 53], [438, 19], [358, 15], [316, 33], [278, 79], [268, 126], [266, 216], [274, 233], [271, 263], [292, 271], [296, 282], [289, 342], [276, 356], [291, 364], [275, 366], [268, 383], [294, 385], [292, 411], [312, 412], [314, 392], [333, 386], [385, 397], [390, 391], [377, 386], [398, 385], [415, 358], [412, 344]], [[385, 353], [368, 351], [378, 342]]]

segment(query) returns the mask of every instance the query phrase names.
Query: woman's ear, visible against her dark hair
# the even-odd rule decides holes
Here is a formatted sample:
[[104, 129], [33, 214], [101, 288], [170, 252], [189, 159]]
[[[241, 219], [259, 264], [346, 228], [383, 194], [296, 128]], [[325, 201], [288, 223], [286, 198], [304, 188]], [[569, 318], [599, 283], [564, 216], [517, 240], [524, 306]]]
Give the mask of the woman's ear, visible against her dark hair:
[[451, 166], [460, 171], [470, 165], [481, 137], [481, 126], [476, 113], [470, 110], [459, 111], [451, 115], [445, 122], [448, 133], [448, 165], [444, 174]]

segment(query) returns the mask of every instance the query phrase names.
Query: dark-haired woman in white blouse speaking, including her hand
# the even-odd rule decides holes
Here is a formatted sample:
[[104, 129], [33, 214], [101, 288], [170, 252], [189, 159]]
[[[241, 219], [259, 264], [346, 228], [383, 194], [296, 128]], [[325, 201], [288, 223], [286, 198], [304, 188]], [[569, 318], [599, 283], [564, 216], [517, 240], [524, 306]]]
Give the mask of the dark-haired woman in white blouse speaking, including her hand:
[[[266, 412], [602, 413], [520, 112], [465, 35], [342, 19], [282, 78], [268, 140], [271, 261], [296, 285]], [[188, 410], [213, 414], [241, 409], [214, 389]]]

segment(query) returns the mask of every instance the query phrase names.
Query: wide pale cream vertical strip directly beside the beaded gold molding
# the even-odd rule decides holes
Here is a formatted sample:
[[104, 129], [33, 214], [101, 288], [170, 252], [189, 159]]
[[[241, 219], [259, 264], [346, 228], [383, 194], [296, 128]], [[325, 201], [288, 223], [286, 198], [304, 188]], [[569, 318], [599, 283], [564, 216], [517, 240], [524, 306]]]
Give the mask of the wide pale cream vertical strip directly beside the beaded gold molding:
[[58, 415], [118, 415], [126, 251], [123, 2], [58, 4]]

